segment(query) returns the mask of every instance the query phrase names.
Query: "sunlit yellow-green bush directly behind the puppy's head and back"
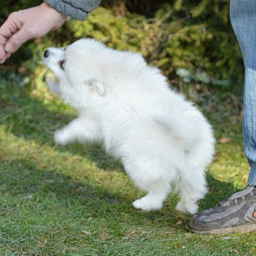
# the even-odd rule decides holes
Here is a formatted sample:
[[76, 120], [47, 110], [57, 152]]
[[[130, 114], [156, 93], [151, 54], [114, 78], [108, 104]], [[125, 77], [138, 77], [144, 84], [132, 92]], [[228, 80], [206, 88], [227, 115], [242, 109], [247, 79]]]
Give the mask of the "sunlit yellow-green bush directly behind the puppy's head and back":
[[71, 20], [70, 29], [75, 38], [90, 36], [115, 49], [140, 51], [169, 78], [180, 67], [193, 74], [205, 72], [225, 84], [241, 78], [241, 54], [228, 21], [228, 3], [221, 11], [215, 4], [211, 14], [208, 10], [203, 15], [204, 3], [210, 1], [194, 8], [179, 2], [162, 4], [151, 19], [134, 13], [115, 17], [110, 9], [98, 8], [87, 22]]

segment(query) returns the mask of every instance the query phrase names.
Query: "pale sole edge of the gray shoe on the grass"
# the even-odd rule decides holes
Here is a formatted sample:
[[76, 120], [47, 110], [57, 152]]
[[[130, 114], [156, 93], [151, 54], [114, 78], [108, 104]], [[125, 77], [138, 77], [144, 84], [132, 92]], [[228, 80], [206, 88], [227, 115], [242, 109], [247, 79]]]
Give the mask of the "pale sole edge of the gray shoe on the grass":
[[209, 231], [198, 231], [198, 230], [195, 230], [195, 229], [193, 229], [189, 226], [186, 226], [186, 229], [188, 229], [189, 231], [192, 231], [194, 233], [197, 233], [197, 234], [218, 235], [218, 234], [231, 234], [231, 233], [234, 233], [234, 232], [249, 233], [249, 232], [256, 231], [256, 223], [247, 224], [247, 225], [244, 225], [244, 226], [237, 226], [237, 227], [216, 228], [216, 229], [212, 229], [212, 230], [209, 230]]

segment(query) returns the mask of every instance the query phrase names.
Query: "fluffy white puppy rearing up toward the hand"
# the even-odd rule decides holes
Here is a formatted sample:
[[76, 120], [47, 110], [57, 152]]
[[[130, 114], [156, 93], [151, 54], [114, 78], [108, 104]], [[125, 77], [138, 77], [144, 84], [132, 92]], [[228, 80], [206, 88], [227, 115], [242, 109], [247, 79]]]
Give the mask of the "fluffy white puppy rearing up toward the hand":
[[181, 199], [177, 210], [197, 212], [215, 140], [205, 117], [170, 89], [160, 70], [140, 54], [92, 39], [49, 48], [44, 62], [58, 78], [51, 90], [79, 112], [55, 133], [57, 143], [103, 143], [147, 192], [133, 202], [138, 209], [160, 209], [172, 187]]

